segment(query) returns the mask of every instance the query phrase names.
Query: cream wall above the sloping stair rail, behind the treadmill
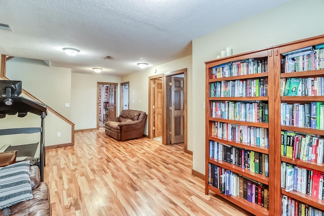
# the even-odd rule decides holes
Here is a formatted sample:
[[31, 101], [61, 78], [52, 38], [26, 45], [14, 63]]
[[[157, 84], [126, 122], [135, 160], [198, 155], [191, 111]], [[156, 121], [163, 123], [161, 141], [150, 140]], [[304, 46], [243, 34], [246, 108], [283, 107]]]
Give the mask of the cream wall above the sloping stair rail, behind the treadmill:
[[71, 69], [49, 67], [42, 60], [15, 57], [7, 61], [6, 76], [22, 80], [22, 88], [70, 120]]

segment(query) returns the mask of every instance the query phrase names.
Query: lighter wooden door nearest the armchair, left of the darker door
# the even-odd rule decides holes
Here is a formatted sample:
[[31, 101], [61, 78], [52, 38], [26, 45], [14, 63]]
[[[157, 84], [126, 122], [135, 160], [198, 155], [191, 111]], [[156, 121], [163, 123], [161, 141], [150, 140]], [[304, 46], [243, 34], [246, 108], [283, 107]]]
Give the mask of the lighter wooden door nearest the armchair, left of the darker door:
[[154, 137], [162, 136], [162, 80], [154, 80]]

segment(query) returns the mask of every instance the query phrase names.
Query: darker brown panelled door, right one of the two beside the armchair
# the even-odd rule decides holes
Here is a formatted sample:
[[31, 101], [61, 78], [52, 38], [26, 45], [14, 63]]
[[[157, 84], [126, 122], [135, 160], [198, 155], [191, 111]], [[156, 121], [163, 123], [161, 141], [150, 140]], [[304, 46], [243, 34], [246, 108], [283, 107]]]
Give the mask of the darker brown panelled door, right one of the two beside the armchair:
[[184, 78], [171, 77], [171, 144], [184, 142]]

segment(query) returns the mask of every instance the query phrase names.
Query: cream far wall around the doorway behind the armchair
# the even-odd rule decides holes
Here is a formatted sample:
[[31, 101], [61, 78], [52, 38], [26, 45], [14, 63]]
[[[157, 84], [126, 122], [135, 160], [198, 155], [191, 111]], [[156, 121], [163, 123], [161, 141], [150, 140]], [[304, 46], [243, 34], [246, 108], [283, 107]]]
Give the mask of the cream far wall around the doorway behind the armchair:
[[[120, 77], [72, 73], [71, 120], [75, 123], [76, 130], [97, 127], [97, 82], [120, 83]], [[119, 84], [116, 91], [116, 110], [119, 110]]]

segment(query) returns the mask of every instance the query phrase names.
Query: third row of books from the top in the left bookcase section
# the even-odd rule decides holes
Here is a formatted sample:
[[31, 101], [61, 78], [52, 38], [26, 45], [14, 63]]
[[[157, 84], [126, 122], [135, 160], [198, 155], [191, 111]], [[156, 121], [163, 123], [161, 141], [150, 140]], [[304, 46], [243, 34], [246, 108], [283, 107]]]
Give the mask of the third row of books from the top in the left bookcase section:
[[268, 104], [260, 102], [213, 101], [212, 117], [238, 121], [268, 122]]

